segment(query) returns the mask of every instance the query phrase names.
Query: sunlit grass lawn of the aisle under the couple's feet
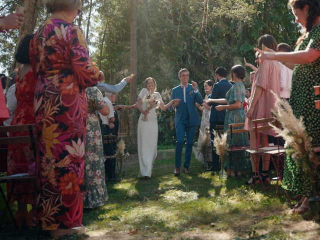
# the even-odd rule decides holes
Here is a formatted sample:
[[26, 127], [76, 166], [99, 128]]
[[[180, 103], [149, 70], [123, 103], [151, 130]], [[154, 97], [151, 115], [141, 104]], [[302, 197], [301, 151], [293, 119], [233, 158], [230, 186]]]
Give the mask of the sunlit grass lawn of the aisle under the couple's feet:
[[281, 190], [276, 197], [275, 189], [245, 186], [245, 175], [220, 180], [193, 154], [189, 175], [174, 176], [173, 166], [174, 150], [159, 150], [151, 179], [138, 179], [131, 155], [123, 180], [107, 182], [109, 203], [84, 210], [86, 234], [61, 239], [320, 238], [320, 224], [290, 213]]

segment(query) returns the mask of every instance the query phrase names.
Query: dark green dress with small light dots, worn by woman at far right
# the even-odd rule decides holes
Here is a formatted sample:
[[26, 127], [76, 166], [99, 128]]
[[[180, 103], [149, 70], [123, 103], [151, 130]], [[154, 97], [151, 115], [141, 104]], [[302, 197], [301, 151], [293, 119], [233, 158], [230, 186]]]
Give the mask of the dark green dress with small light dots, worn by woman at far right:
[[[320, 24], [314, 26], [295, 50], [310, 47], [320, 50]], [[292, 75], [289, 104], [293, 114], [303, 118], [306, 131], [312, 137], [312, 147], [320, 146], [320, 110], [315, 109], [313, 86], [320, 85], [320, 58], [311, 63], [296, 64]], [[283, 188], [301, 196], [311, 195], [310, 176], [291, 155], [287, 154], [284, 161]]]

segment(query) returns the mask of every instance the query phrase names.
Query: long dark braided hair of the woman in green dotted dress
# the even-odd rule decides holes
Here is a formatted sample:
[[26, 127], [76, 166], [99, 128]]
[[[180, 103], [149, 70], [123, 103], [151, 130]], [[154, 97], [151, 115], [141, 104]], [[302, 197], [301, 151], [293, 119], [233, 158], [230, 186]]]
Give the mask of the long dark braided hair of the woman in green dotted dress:
[[289, 0], [292, 8], [303, 9], [305, 5], [309, 6], [308, 16], [306, 18], [306, 28], [302, 35], [297, 39], [296, 45], [302, 41], [307, 32], [312, 29], [314, 19], [320, 15], [320, 0]]

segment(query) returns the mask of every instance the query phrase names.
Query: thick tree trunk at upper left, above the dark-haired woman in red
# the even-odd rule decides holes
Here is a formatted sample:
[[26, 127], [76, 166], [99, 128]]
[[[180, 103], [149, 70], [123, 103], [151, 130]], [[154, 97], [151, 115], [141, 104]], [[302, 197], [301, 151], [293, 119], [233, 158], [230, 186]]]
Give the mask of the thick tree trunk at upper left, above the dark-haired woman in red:
[[[19, 35], [17, 39], [17, 44], [15, 51], [19, 45], [20, 40], [28, 33], [33, 33], [36, 19], [38, 17], [38, 12], [40, 6], [42, 5], [42, 0], [24, 0], [24, 20], [19, 29]], [[10, 72], [12, 72], [17, 67], [17, 62], [13, 60]]]

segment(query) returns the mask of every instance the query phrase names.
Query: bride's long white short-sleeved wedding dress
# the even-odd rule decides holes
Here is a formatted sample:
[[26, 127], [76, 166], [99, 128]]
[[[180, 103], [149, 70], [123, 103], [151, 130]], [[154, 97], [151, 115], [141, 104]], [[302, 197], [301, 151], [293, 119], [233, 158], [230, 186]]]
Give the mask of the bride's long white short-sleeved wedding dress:
[[[142, 109], [145, 110], [145, 96], [149, 94], [146, 88], [142, 88], [139, 98], [142, 99]], [[154, 92], [156, 100], [162, 101], [161, 95]], [[151, 170], [156, 158], [156, 148], [158, 142], [158, 121], [156, 119], [155, 107], [149, 110], [147, 121], [142, 121], [143, 114], [140, 113], [137, 128], [137, 146], [139, 156], [139, 174], [138, 177], [151, 176]]]

